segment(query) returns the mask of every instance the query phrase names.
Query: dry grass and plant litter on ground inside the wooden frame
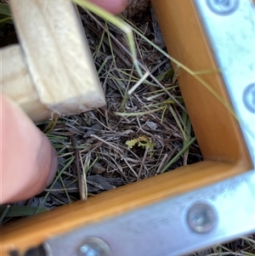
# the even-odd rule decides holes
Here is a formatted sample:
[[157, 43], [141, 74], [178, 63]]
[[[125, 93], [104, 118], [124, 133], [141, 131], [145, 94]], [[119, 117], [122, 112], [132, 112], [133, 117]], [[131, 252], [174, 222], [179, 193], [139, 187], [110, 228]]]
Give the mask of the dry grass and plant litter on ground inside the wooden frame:
[[[196, 143], [190, 146], [189, 157], [179, 154], [194, 134], [169, 60], [136, 37], [139, 63], [149, 76], [128, 95], [139, 76], [134, 71], [124, 33], [111, 24], [105, 25], [93, 14], [81, 13], [106, 105], [78, 116], [59, 118], [48, 128], [41, 125], [50, 131], [48, 136], [59, 149], [59, 177], [63, 179], [48, 188], [47, 199], [42, 195], [44, 206], [48, 201], [56, 206], [85, 198], [86, 190], [88, 194], [98, 193], [160, 174], [171, 160], [167, 170], [201, 161]], [[139, 29], [154, 40], [148, 14], [144, 24], [139, 23]], [[120, 116], [122, 113], [124, 117]], [[85, 162], [88, 187], [82, 186], [83, 176], [77, 175]], [[61, 200], [56, 199], [56, 190]]]

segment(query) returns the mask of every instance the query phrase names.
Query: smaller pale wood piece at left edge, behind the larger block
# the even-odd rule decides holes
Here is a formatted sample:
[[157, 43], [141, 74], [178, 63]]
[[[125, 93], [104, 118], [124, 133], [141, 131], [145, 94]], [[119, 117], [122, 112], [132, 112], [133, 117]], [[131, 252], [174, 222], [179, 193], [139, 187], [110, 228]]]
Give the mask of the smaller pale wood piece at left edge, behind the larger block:
[[47, 120], [52, 115], [42, 105], [37, 89], [28, 72], [20, 45], [0, 49], [2, 61], [1, 93], [14, 100], [35, 122]]

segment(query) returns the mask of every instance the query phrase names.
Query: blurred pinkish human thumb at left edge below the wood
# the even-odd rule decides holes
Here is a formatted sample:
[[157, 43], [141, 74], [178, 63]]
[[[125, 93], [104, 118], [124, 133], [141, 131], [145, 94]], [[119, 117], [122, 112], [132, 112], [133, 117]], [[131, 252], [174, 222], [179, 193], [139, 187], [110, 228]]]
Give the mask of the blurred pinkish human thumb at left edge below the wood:
[[0, 204], [35, 196], [54, 179], [58, 155], [45, 134], [0, 94]]

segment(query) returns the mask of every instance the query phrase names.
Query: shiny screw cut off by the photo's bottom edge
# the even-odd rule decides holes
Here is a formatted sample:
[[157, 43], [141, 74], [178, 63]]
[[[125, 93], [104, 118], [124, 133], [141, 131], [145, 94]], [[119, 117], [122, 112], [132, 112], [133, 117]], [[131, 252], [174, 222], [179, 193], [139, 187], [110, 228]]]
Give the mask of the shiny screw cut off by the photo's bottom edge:
[[78, 249], [78, 256], [111, 256], [109, 245], [98, 237], [88, 237]]

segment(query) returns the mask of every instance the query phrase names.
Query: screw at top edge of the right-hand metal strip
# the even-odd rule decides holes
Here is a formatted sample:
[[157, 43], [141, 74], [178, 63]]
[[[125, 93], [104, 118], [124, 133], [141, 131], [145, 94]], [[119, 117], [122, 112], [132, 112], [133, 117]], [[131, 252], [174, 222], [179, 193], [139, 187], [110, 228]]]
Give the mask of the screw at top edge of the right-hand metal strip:
[[213, 13], [231, 14], [237, 9], [239, 0], [207, 0], [207, 5]]

